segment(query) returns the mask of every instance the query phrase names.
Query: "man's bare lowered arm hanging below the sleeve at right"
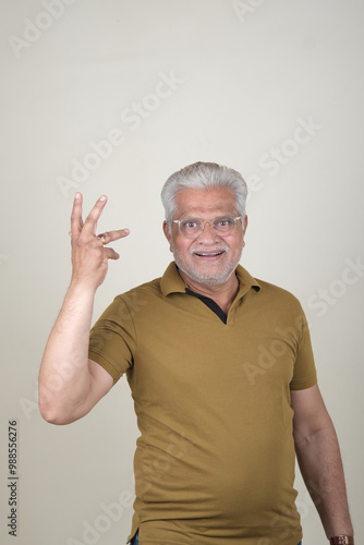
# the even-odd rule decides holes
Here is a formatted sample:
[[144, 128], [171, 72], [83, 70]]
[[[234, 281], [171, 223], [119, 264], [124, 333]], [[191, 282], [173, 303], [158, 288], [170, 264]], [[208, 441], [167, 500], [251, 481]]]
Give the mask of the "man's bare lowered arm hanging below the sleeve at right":
[[340, 449], [318, 386], [291, 391], [299, 465], [328, 538], [353, 535]]

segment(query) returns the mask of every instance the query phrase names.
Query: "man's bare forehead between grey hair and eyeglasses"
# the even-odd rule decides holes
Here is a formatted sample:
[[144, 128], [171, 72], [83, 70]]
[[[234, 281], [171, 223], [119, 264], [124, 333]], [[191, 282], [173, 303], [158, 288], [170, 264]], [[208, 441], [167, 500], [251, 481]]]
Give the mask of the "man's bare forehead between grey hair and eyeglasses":
[[214, 217], [238, 215], [235, 194], [228, 187], [183, 190], [175, 195], [177, 216]]

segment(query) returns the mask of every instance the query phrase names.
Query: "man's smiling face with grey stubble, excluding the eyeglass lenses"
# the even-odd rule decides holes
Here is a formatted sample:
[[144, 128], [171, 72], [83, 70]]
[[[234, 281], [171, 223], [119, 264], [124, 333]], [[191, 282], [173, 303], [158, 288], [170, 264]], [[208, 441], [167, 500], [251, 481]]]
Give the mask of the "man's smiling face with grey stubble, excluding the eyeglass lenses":
[[[239, 216], [233, 191], [226, 187], [211, 190], [184, 190], [175, 197], [177, 214], [173, 219], [201, 218], [211, 220], [221, 216]], [[196, 239], [187, 239], [172, 223], [172, 232], [165, 222], [165, 234], [182, 272], [205, 286], [222, 286], [235, 270], [244, 245], [247, 218], [238, 220], [235, 230], [228, 237], [219, 237], [209, 223]]]

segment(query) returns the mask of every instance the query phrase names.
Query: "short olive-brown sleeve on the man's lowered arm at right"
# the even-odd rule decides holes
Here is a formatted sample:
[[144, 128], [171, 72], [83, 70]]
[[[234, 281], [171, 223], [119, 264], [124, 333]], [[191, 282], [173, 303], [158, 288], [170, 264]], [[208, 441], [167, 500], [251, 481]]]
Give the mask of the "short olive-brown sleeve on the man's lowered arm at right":
[[298, 353], [294, 362], [293, 377], [290, 383], [291, 390], [303, 390], [317, 384], [317, 374], [312, 350], [308, 324], [304, 312], [298, 320], [300, 329]]

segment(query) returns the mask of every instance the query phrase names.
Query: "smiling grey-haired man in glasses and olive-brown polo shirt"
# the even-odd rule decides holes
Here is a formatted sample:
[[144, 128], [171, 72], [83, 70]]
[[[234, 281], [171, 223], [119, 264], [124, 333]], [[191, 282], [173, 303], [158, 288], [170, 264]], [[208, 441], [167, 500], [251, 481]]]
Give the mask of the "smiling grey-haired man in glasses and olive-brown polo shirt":
[[[39, 374], [54, 424], [81, 419], [126, 373], [141, 436], [134, 518], [141, 545], [298, 545], [295, 453], [331, 544], [352, 544], [339, 446], [316, 379], [302, 307], [239, 265], [247, 226], [241, 174], [198, 162], [162, 190], [174, 261], [118, 295], [89, 334], [108, 246], [72, 211], [73, 272]], [[316, 545], [316, 544], [315, 544]]]

